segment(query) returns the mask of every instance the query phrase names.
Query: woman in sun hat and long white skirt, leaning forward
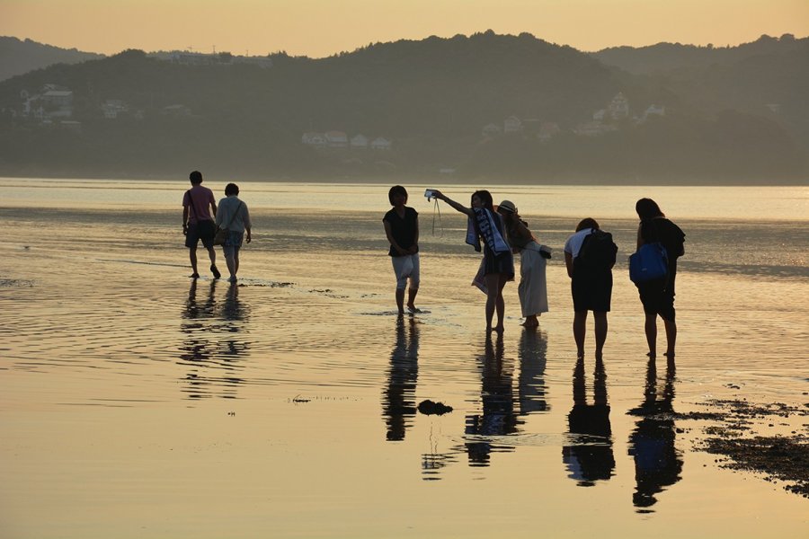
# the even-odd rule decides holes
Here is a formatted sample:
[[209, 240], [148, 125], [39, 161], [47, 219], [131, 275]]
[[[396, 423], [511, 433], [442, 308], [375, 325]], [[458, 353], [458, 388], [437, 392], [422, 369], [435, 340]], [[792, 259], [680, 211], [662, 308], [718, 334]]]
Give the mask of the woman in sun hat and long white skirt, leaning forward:
[[520, 306], [527, 328], [539, 325], [537, 317], [547, 313], [547, 279], [545, 270], [550, 249], [540, 245], [534, 234], [531, 234], [528, 223], [520, 218], [517, 208], [511, 200], [503, 200], [497, 207], [505, 221], [506, 235], [514, 254], [520, 253]]

